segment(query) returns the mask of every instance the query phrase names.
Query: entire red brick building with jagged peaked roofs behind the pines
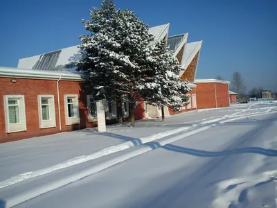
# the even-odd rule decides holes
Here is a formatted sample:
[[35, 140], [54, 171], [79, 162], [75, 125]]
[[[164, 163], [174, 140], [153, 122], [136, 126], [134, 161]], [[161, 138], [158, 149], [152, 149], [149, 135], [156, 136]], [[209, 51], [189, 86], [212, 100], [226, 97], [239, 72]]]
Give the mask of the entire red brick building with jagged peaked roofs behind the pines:
[[[182, 111], [229, 106], [229, 82], [195, 80], [202, 41], [188, 43], [188, 33], [168, 37], [170, 24], [150, 28], [154, 41], [168, 40], [188, 80], [190, 103]], [[80, 57], [78, 46], [19, 59], [18, 68], [0, 67], [0, 142], [77, 130], [97, 125], [96, 103], [85, 92], [82, 77], [71, 58]], [[138, 101], [139, 103], [140, 101]], [[123, 116], [129, 105], [123, 101]], [[116, 103], [106, 103], [106, 119], [116, 118]], [[166, 116], [176, 114], [166, 107]], [[161, 109], [141, 103], [136, 119], [161, 116]]]

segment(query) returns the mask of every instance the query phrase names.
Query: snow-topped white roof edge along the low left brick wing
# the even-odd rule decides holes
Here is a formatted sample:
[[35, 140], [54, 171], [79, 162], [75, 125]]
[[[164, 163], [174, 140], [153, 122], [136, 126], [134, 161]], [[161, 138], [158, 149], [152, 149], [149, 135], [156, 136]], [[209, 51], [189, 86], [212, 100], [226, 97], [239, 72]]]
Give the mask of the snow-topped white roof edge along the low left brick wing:
[[0, 67], [0, 77], [8, 78], [35, 78], [47, 80], [76, 80], [80, 81], [82, 75], [78, 72], [68, 71], [46, 71], [35, 69], [19, 69], [11, 67]]

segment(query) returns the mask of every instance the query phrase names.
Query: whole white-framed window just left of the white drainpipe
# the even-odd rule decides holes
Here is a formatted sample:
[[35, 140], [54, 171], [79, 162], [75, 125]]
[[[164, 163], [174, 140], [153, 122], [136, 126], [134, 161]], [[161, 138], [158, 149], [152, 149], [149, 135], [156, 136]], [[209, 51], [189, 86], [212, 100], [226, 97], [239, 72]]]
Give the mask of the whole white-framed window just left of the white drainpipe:
[[56, 126], [54, 95], [41, 94], [37, 96], [39, 110], [39, 128]]

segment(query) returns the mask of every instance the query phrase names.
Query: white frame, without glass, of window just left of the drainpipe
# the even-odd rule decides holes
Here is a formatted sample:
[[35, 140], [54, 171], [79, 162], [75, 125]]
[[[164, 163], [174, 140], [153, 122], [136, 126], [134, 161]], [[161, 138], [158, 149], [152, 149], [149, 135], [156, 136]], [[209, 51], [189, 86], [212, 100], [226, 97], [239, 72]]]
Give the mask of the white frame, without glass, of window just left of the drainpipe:
[[[49, 119], [42, 120], [42, 98], [48, 99]], [[55, 98], [53, 94], [40, 94], [37, 96], [37, 108], [39, 111], [39, 128], [52, 128], [56, 126]]]

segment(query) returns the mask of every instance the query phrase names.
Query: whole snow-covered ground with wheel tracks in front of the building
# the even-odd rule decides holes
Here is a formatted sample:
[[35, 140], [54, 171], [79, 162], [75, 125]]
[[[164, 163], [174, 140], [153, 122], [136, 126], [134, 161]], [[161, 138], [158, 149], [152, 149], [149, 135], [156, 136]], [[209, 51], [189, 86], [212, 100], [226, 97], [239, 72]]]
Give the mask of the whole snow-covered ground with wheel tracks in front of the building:
[[277, 207], [276, 112], [235, 105], [1, 144], [1, 202], [53, 190], [17, 206]]

